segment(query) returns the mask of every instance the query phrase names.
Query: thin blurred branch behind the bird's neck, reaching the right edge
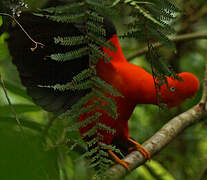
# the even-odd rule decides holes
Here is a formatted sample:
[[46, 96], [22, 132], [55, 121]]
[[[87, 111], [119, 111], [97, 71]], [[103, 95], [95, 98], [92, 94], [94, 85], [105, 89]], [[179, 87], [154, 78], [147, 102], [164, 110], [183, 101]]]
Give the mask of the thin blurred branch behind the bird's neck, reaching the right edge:
[[[184, 35], [179, 35], [175, 38], [172, 38], [171, 41], [172, 42], [180, 42], [180, 41], [192, 41], [192, 40], [196, 40], [196, 39], [207, 39], [207, 33], [205, 32], [196, 32], [196, 33], [189, 33], [189, 34], [184, 34]], [[155, 43], [153, 44], [154, 48], [159, 48], [162, 47], [163, 44], [161, 43]], [[133, 55], [129, 56], [127, 58], [128, 61], [138, 57], [138, 56], [142, 56], [145, 53], [148, 52], [148, 47], [145, 47], [143, 49], [138, 50], [136, 53], [134, 53]]]

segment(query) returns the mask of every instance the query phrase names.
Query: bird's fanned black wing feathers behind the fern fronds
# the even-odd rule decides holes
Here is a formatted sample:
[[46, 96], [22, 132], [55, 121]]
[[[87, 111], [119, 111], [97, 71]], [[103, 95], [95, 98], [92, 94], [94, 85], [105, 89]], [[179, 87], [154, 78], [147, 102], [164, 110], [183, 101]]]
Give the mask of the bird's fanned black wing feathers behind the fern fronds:
[[[79, 46], [62, 46], [54, 43], [54, 37], [78, 36], [84, 33], [83, 24], [64, 24], [35, 16], [32, 13], [22, 13], [17, 19], [29, 35], [45, 46], [31, 51], [34, 43], [25, 35], [18, 25], [9, 29], [8, 47], [13, 57], [22, 84], [34, 102], [50, 112], [61, 113], [76, 103], [90, 91], [59, 91], [42, 86], [66, 84], [73, 76], [89, 67], [88, 56], [76, 58], [66, 62], [57, 62], [49, 56], [56, 53], [66, 53], [79, 49]], [[110, 20], [104, 19], [106, 38], [110, 39], [116, 33]]]

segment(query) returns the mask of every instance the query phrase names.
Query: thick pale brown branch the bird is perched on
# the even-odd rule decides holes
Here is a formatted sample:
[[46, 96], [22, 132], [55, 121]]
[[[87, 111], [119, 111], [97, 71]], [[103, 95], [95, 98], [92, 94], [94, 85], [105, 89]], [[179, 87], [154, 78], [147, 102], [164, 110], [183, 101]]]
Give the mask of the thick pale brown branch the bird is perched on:
[[[167, 144], [169, 144], [178, 134], [180, 134], [185, 128], [193, 124], [198, 123], [204, 117], [207, 116], [206, 104], [207, 104], [207, 61], [206, 70], [203, 81], [203, 96], [201, 101], [188, 111], [174, 117], [168, 123], [166, 123], [157, 133], [155, 133], [149, 140], [147, 140], [143, 147], [151, 153], [153, 157], [160, 152]], [[146, 160], [142, 154], [138, 151], [134, 151], [124, 158], [125, 161], [130, 163], [130, 169], [133, 170]], [[112, 166], [107, 172], [107, 179], [121, 179], [128, 171], [121, 165], [116, 164]]]

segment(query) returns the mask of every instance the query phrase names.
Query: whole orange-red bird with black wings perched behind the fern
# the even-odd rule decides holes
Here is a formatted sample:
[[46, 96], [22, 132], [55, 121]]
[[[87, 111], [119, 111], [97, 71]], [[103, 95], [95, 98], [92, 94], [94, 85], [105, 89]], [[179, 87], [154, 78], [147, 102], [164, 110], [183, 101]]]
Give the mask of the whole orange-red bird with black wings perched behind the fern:
[[[85, 33], [84, 25], [57, 23], [28, 12], [23, 13], [18, 21], [32, 38], [45, 45], [43, 48], [37, 48], [32, 52], [30, 48], [33, 47], [33, 43], [25, 36], [24, 32], [17, 25], [10, 28], [8, 46], [23, 85], [27, 88], [27, 92], [34, 102], [45, 110], [58, 113], [66, 111], [90, 90], [62, 92], [39, 87], [39, 85], [65, 84], [70, 82], [74, 75], [89, 67], [88, 56], [64, 62], [57, 62], [50, 58], [51, 54], [66, 53], [80, 47], [80, 45], [63, 46], [55, 44], [53, 38], [83, 35]], [[99, 130], [103, 136], [101, 141], [105, 144], [111, 144], [115, 139], [120, 142], [128, 142], [131, 147], [149, 159], [150, 153], [129, 137], [128, 120], [137, 104], [158, 105], [153, 77], [143, 68], [126, 61], [115, 27], [110, 20], [104, 19], [103, 28], [106, 29], [106, 38], [114, 44], [116, 51], [102, 48], [112, 59], [110, 63], [105, 63], [102, 59], [99, 60], [96, 71], [100, 78], [117, 89], [123, 97], [112, 97], [106, 94], [117, 103], [119, 116], [116, 120], [102, 110], [94, 109], [96, 112], [102, 113], [99, 119], [102, 124], [116, 130], [115, 134]], [[199, 89], [199, 81], [195, 75], [183, 72], [178, 76], [183, 81], [167, 78], [169, 87], [163, 85], [159, 92], [162, 97], [159, 102], [165, 103], [169, 108], [179, 105], [186, 98], [193, 97]], [[88, 102], [88, 104], [90, 103], [93, 103], [93, 100]], [[81, 115], [80, 121], [84, 121], [88, 116], [90, 114]], [[80, 128], [80, 133], [83, 135], [93, 126], [92, 123]], [[111, 150], [108, 152], [116, 162], [129, 169], [127, 162], [120, 160]]]

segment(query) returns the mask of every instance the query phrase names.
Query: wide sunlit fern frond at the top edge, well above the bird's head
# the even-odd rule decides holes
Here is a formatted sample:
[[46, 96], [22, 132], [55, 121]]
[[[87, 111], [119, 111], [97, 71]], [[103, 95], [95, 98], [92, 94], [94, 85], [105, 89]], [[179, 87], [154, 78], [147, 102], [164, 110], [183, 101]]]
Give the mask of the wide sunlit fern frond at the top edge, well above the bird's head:
[[[178, 8], [169, 0], [125, 0], [132, 8], [133, 22], [129, 23], [130, 31], [123, 37], [145, 37], [145, 41], [160, 41], [169, 47], [174, 47], [168, 35], [174, 33], [169, 23], [175, 18]], [[140, 32], [142, 32], [140, 34]]]

